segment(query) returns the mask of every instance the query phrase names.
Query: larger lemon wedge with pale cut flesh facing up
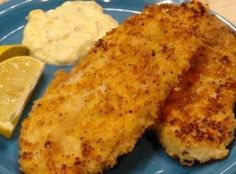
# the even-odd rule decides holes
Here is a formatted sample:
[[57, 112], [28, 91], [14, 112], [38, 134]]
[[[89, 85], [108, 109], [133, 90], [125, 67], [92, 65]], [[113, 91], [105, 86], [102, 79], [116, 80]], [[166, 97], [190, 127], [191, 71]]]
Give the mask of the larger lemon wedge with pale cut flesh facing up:
[[0, 134], [10, 138], [44, 63], [29, 56], [0, 63]]

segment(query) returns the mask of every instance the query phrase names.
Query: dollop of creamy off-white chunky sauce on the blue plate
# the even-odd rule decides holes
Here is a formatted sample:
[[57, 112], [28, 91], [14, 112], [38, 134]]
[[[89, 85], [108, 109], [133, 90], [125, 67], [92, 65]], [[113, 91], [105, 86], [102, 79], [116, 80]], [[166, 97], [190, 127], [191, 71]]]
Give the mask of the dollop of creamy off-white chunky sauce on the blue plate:
[[118, 23], [94, 1], [67, 1], [55, 10], [29, 13], [23, 45], [49, 64], [72, 64]]

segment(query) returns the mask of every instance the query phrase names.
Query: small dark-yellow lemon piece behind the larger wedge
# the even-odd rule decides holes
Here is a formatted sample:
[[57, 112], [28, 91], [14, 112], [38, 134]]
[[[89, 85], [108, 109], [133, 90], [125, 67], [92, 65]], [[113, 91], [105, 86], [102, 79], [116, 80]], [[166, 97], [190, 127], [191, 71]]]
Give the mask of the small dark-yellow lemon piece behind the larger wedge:
[[15, 56], [29, 55], [29, 49], [23, 45], [1, 45], [0, 62]]

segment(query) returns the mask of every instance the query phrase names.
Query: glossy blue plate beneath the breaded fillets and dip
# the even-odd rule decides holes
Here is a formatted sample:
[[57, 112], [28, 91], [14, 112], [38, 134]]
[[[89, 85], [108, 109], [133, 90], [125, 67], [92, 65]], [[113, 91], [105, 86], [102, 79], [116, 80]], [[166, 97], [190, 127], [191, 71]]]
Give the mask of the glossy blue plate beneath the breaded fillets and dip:
[[[11, 0], [0, 5], [0, 45], [20, 43], [22, 29], [26, 23], [25, 17], [30, 10], [41, 8], [49, 10], [63, 3], [63, 0]], [[99, 0], [98, 3], [106, 8], [119, 22], [126, 17], [138, 13], [145, 4], [156, 3], [157, 0]], [[178, 2], [172, 1], [172, 2]], [[223, 19], [223, 18], [222, 18]], [[224, 20], [224, 19], [223, 19]], [[227, 21], [225, 21], [227, 23]], [[231, 25], [230, 23], [228, 23]], [[24, 114], [20, 120], [26, 117], [34, 100], [39, 98], [53, 78], [56, 70], [64, 68], [69, 70], [70, 66], [57, 67], [46, 66], [44, 74], [34, 90]], [[18, 160], [18, 136], [20, 123], [13, 137], [9, 140], [0, 137], [0, 174], [20, 173]], [[235, 174], [236, 173], [236, 144], [231, 144], [231, 152], [228, 158], [220, 161], [195, 165], [194, 167], [183, 167], [175, 159], [168, 157], [160, 144], [151, 133], [146, 133], [136, 145], [134, 151], [118, 160], [118, 165], [106, 174]]]

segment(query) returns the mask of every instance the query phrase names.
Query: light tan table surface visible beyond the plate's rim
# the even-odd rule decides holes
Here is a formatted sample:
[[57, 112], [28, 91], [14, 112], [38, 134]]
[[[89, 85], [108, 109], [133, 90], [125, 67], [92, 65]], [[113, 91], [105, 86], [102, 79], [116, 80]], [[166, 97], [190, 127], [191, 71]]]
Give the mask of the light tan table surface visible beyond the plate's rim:
[[[7, 0], [0, 0], [0, 4]], [[209, 4], [210, 8], [226, 19], [236, 24], [236, 0], [202, 0]]]

